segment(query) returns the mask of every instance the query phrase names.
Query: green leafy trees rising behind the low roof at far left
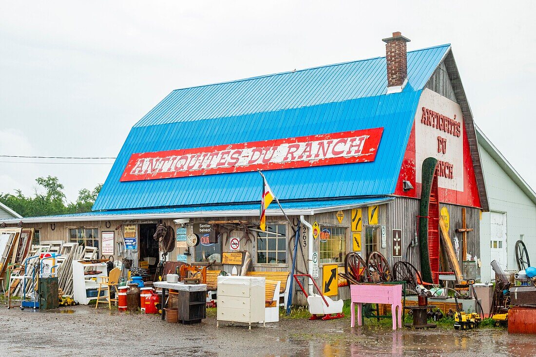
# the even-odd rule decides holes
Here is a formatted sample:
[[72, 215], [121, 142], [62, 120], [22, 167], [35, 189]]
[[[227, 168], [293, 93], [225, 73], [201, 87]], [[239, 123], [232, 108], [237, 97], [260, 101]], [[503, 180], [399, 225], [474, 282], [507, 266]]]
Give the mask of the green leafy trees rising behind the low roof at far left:
[[0, 194], [0, 202], [10, 207], [23, 217], [39, 217], [42, 215], [56, 215], [69, 213], [84, 213], [91, 211], [91, 207], [99, 194], [102, 184], [97, 185], [90, 191], [81, 189], [74, 203], [65, 205], [66, 197], [63, 193], [64, 186], [57, 177], [38, 177], [35, 182], [44, 189], [41, 194], [36, 189], [35, 195], [25, 196], [21, 190], [15, 190], [16, 195]]

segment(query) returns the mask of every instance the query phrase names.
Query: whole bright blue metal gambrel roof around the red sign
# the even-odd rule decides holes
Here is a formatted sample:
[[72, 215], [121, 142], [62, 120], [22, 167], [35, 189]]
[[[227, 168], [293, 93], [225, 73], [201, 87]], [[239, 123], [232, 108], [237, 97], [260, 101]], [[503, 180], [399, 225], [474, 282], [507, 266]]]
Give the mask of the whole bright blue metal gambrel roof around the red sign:
[[130, 131], [94, 210], [255, 202], [258, 173], [120, 182], [132, 153], [383, 127], [374, 162], [265, 172], [279, 199], [394, 192], [421, 90], [449, 45], [408, 53], [408, 84], [385, 95], [385, 57], [177, 90]]

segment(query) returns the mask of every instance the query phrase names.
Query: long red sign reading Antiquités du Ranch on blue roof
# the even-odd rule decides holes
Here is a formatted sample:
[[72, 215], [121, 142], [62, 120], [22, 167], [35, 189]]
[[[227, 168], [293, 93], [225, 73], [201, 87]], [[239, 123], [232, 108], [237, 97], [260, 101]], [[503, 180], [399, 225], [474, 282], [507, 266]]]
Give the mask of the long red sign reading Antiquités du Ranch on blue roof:
[[374, 161], [383, 128], [132, 154], [121, 181]]

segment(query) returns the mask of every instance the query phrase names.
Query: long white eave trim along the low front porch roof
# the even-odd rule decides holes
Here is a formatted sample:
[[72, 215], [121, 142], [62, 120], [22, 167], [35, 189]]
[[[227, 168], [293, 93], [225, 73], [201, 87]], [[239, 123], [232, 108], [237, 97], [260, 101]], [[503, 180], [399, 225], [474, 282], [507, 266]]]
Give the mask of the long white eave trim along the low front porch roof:
[[[379, 198], [371, 199], [365, 203], [359, 204], [346, 204], [329, 207], [321, 207], [317, 209], [288, 209], [285, 210], [287, 215], [313, 215], [323, 212], [332, 212], [338, 210], [348, 210], [353, 208], [359, 208], [363, 206], [369, 206], [374, 204], [389, 203], [394, 200], [392, 198]], [[0, 222], [6, 222], [6, 224], [15, 224], [20, 221], [23, 223], [48, 223], [48, 222], [81, 222], [81, 221], [117, 221], [117, 220], [133, 220], [133, 219], [165, 219], [165, 218], [205, 218], [205, 217], [254, 217], [259, 215], [259, 210], [226, 210], [226, 211], [197, 211], [197, 212], [170, 212], [170, 213], [141, 213], [141, 214], [99, 214], [99, 215], [80, 215], [69, 217], [31, 217], [21, 219], [7, 219]], [[270, 209], [266, 210], [266, 215], [282, 215], [281, 210]]]

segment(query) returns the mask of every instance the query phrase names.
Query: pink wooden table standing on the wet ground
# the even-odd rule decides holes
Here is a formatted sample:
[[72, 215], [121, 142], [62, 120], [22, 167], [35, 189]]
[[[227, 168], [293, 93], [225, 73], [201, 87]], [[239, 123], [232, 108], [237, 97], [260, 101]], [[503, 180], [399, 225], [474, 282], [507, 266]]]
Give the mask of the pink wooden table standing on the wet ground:
[[[393, 330], [402, 328], [402, 285], [401, 284], [362, 284], [350, 285], [352, 320], [355, 326], [355, 304], [358, 304], [358, 326], [363, 324], [361, 308], [363, 303], [391, 304]], [[397, 309], [398, 308], [398, 309]]]

